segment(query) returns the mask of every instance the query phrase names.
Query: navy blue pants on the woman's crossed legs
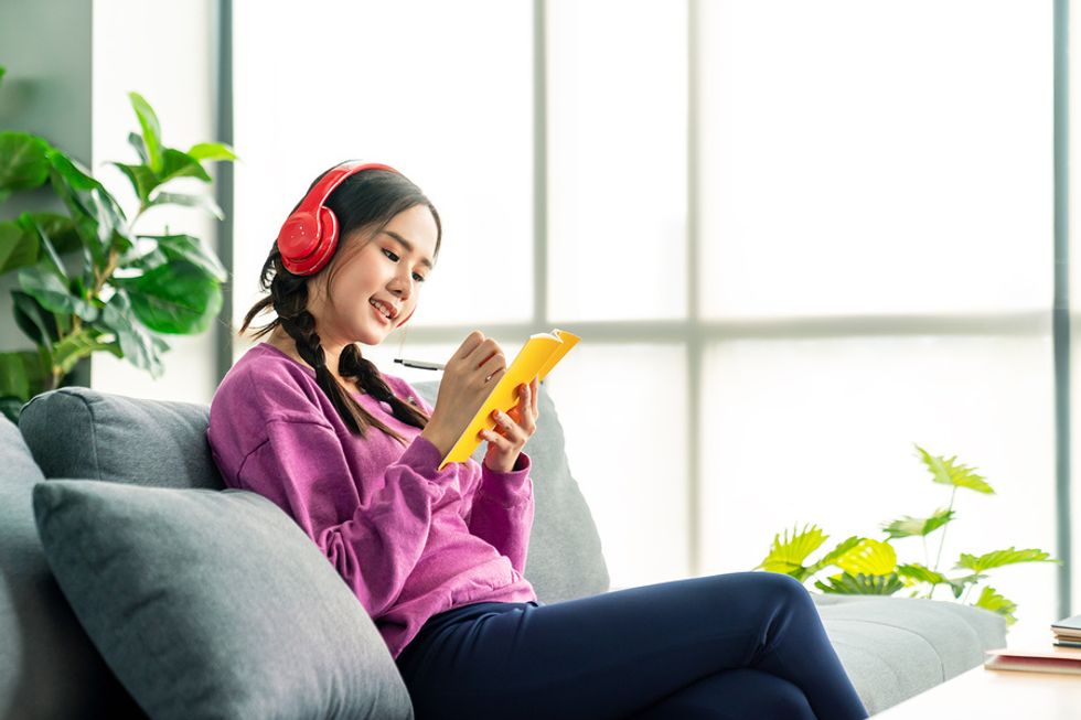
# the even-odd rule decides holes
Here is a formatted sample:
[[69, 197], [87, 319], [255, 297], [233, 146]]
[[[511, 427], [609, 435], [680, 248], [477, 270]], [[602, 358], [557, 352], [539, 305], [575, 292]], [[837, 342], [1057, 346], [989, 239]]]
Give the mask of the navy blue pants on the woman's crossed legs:
[[807, 589], [777, 572], [462, 605], [396, 662], [417, 720], [867, 717]]

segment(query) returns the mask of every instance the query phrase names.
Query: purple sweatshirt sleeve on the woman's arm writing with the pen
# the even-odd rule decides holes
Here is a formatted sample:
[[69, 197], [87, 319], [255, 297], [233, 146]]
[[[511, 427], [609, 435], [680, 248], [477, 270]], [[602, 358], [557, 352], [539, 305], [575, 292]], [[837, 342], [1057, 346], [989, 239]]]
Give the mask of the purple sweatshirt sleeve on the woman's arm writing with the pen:
[[[457, 464], [438, 471], [439, 461], [439, 449], [417, 436], [386, 468], [385, 484], [366, 492], [333, 428], [279, 419], [267, 423], [266, 442], [245, 459], [238, 477], [300, 525], [376, 619], [420, 559], [432, 515], [457, 479]], [[457, 493], [451, 498], [457, 502]]]

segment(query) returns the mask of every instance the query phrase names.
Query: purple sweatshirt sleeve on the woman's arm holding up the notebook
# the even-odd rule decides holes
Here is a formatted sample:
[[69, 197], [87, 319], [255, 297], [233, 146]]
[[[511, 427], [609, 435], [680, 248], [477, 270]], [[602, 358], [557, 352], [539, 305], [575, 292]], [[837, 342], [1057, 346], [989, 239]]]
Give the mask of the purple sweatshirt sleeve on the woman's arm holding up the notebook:
[[518, 453], [510, 472], [489, 470], [481, 463], [481, 483], [464, 517], [469, 531], [505, 555], [520, 574], [525, 573], [533, 530], [532, 465], [525, 452]]

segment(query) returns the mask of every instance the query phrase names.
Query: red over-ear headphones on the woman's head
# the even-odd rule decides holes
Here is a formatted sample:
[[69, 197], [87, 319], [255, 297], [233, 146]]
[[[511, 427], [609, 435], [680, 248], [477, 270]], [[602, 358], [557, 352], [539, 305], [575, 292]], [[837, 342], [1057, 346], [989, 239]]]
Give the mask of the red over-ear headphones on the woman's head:
[[[289, 272], [299, 276], [315, 275], [330, 262], [338, 248], [339, 223], [334, 211], [323, 203], [346, 178], [373, 168], [398, 172], [390, 165], [378, 162], [346, 161], [328, 170], [308, 191], [300, 205], [278, 230], [278, 251], [281, 252], [281, 264]], [[406, 324], [409, 318], [413, 318], [411, 312], [397, 327]]]

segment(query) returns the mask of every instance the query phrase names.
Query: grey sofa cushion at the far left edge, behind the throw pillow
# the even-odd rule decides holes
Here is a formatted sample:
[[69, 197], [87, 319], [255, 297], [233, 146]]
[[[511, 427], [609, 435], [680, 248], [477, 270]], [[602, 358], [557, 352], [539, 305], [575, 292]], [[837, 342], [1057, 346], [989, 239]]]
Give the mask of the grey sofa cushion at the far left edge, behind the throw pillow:
[[0, 416], [0, 718], [145, 717], [53, 579], [31, 495], [44, 480]]

